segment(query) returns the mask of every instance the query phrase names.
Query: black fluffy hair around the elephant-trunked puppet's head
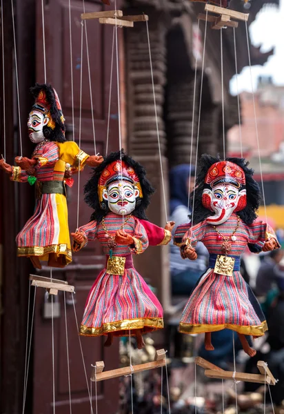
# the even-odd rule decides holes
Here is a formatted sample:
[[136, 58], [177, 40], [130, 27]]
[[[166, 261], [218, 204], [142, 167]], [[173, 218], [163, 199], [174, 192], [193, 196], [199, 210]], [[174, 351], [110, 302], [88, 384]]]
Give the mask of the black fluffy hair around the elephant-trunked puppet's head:
[[[204, 180], [209, 168], [216, 162], [223, 161], [219, 156], [212, 157], [211, 155], [203, 154], [199, 161], [199, 173], [196, 177], [196, 188], [194, 196], [194, 214], [193, 224], [198, 224], [212, 215], [212, 211], [205, 208], [202, 204], [202, 193], [205, 187]], [[261, 190], [257, 182], [253, 178], [254, 170], [248, 168], [248, 161], [244, 158], [226, 158], [225, 161], [230, 161], [243, 169], [245, 172], [245, 188], [247, 190], [247, 205], [243, 210], [236, 213], [243, 220], [245, 224], [252, 224], [257, 218], [256, 210], [258, 210], [261, 203]], [[190, 195], [191, 206], [193, 204], [193, 192]]]

